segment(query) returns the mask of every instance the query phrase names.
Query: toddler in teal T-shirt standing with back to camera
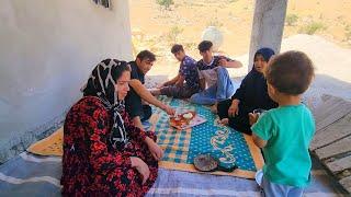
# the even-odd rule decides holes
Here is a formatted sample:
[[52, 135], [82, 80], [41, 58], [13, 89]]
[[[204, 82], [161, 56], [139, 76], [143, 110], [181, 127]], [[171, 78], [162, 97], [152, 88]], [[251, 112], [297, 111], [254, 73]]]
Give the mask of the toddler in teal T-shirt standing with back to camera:
[[308, 152], [315, 132], [310, 111], [301, 103], [314, 78], [310, 59], [301, 51], [273, 57], [264, 71], [270, 97], [278, 108], [249, 114], [254, 143], [263, 148], [264, 196], [302, 196], [310, 181]]

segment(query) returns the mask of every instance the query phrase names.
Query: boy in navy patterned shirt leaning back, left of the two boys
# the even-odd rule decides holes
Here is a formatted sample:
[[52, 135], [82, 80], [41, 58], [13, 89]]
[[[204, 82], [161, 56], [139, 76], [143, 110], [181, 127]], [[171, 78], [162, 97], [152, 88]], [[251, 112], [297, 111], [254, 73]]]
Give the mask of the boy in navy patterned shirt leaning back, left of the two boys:
[[178, 76], [150, 92], [154, 96], [167, 95], [176, 99], [189, 99], [200, 91], [196, 61], [185, 55], [182, 45], [173, 45], [171, 53], [180, 61]]

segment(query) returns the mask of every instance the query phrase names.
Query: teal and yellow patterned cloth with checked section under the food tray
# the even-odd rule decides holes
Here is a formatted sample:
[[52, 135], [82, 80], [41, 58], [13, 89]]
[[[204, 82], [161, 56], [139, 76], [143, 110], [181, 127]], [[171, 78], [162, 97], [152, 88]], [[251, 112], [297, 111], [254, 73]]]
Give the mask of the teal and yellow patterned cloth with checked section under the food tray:
[[158, 143], [165, 150], [160, 166], [197, 172], [193, 166], [194, 158], [208, 153], [219, 160], [224, 167], [238, 166], [231, 173], [218, 171], [213, 174], [253, 178], [254, 172], [262, 167], [262, 154], [253, 144], [251, 137], [218, 125], [217, 116], [211, 112], [210, 107], [191, 104], [183, 100], [169, 97], [160, 97], [160, 100], [180, 112], [195, 111], [207, 120], [195, 127], [178, 130], [169, 125], [169, 116], [165, 112], [154, 108], [155, 114], [158, 114], [155, 118]]

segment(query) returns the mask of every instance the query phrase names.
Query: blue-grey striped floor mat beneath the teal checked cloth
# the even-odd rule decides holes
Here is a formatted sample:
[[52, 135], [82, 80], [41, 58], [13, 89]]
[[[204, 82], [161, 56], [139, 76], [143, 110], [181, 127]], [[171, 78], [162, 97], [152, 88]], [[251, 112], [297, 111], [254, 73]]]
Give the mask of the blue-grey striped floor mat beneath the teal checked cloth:
[[[316, 165], [312, 172], [306, 197], [347, 196], [338, 190], [337, 182]], [[0, 196], [60, 196], [61, 157], [39, 157], [27, 152], [0, 165]], [[247, 196], [259, 197], [253, 179], [217, 176], [159, 169], [159, 175], [146, 196]]]

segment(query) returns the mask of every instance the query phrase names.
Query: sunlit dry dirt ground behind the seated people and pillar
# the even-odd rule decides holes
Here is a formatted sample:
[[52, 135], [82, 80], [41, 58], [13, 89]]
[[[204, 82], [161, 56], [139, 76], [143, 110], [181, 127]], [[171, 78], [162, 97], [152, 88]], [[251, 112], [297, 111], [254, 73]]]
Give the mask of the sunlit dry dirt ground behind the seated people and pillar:
[[[200, 59], [196, 46], [210, 25], [224, 35], [219, 50], [244, 63], [230, 74], [246, 74], [254, 0], [173, 1], [165, 9], [156, 0], [129, 0], [134, 53], [150, 49], [158, 56], [149, 76], [170, 78], [177, 73], [179, 63], [170, 53], [173, 43]], [[351, 82], [350, 11], [350, 0], [290, 0], [282, 51], [301, 49], [316, 61], [318, 73]]]

